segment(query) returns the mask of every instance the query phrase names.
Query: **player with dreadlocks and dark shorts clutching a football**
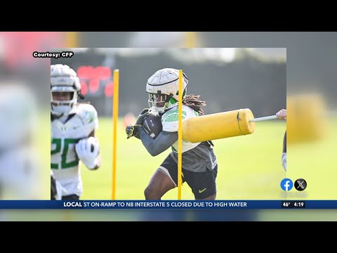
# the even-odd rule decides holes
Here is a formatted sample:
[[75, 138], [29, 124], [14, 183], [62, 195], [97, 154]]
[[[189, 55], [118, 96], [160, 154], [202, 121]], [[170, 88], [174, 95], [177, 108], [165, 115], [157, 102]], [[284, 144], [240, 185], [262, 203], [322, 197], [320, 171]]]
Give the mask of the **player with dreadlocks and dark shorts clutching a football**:
[[[148, 109], [140, 112], [135, 126], [127, 126], [128, 137], [137, 136], [147, 151], [159, 155], [171, 147], [172, 152], [152, 175], [145, 188], [146, 200], [159, 200], [169, 190], [178, 186], [178, 83], [179, 71], [172, 68], [158, 70], [147, 80], [150, 111], [161, 115], [163, 131], [152, 139], [144, 131], [143, 119]], [[204, 114], [201, 106], [206, 105], [199, 96], [186, 95], [188, 79], [183, 74], [183, 119]], [[213, 143], [190, 143], [183, 141], [183, 182], [192, 189], [197, 200], [216, 199], [216, 176], [218, 162], [213, 153]]]

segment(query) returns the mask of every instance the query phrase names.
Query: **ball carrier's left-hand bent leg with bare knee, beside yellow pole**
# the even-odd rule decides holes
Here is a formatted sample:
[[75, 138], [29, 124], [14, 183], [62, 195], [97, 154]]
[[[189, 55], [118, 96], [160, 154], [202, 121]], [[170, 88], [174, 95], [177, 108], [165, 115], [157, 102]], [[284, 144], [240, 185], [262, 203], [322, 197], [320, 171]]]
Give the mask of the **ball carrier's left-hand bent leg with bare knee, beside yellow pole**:
[[177, 184], [173, 181], [174, 171], [177, 171], [177, 164], [169, 155], [154, 172], [145, 188], [145, 200], [160, 200], [165, 193], [176, 188]]

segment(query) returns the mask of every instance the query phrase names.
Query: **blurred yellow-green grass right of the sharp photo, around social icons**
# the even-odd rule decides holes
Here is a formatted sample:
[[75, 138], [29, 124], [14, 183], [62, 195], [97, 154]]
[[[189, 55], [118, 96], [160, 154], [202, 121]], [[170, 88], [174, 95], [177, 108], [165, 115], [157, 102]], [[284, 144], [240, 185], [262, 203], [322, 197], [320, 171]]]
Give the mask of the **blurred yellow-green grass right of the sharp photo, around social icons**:
[[[337, 200], [337, 133], [334, 131], [337, 119], [331, 119], [327, 123], [321, 138], [287, 145], [289, 169], [286, 175], [293, 181], [307, 181], [307, 188], [303, 191], [306, 197], [303, 200]], [[293, 188], [291, 192], [295, 193], [296, 190]]]

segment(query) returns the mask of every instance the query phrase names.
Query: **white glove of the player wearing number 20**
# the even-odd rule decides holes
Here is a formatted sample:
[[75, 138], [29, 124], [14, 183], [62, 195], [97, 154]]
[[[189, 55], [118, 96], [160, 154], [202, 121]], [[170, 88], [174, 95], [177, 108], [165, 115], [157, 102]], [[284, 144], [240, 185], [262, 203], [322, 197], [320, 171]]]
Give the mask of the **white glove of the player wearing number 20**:
[[88, 169], [95, 169], [98, 164], [96, 157], [100, 151], [100, 145], [95, 137], [84, 138], [75, 145], [79, 160], [86, 164]]

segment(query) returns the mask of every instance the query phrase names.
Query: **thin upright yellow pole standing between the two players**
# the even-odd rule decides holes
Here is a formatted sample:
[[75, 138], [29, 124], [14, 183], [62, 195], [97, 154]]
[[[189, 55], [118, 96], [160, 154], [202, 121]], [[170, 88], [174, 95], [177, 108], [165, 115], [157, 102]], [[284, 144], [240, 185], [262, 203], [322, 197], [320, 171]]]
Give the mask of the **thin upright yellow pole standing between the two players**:
[[116, 170], [117, 170], [117, 123], [118, 123], [118, 94], [119, 94], [119, 70], [114, 70], [114, 103], [112, 117], [114, 119], [112, 134], [112, 200], [116, 200]]

